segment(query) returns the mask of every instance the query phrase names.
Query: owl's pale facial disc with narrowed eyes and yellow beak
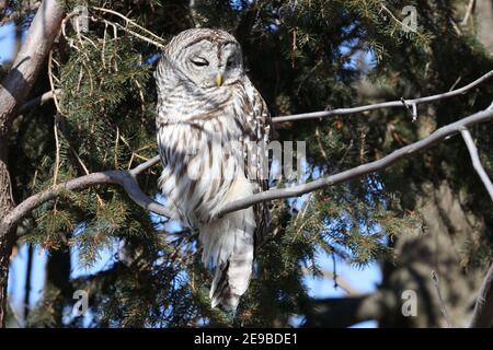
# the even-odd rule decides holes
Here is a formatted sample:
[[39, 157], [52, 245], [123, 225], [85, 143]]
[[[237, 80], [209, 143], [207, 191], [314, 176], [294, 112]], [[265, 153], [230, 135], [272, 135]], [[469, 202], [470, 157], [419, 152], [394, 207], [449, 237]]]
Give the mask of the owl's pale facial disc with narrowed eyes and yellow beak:
[[234, 42], [203, 39], [185, 47], [180, 56], [181, 71], [199, 88], [230, 85], [243, 75], [241, 49]]

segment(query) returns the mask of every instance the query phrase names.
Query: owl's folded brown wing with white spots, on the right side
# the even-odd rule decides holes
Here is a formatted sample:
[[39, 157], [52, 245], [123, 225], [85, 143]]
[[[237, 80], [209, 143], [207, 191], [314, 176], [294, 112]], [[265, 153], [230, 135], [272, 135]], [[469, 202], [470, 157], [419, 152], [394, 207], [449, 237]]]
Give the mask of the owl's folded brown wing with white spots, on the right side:
[[[268, 151], [272, 121], [267, 105], [248, 78], [244, 80], [243, 96], [244, 152], [249, 162], [245, 164], [245, 176], [254, 184], [255, 192], [268, 189]], [[246, 142], [245, 142], [246, 141]], [[248, 142], [253, 141], [253, 142]], [[263, 141], [263, 142], [261, 142]], [[255, 214], [255, 248], [265, 240], [270, 221], [268, 205], [257, 203], [253, 207]]]

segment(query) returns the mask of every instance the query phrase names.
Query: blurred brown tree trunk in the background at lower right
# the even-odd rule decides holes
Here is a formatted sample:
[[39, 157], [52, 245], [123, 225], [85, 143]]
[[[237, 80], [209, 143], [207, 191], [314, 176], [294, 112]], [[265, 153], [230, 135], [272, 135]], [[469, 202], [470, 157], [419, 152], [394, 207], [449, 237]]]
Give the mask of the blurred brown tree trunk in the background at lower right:
[[399, 236], [394, 246], [398, 258], [385, 265], [382, 283], [399, 305], [404, 302], [404, 291], [415, 292], [417, 315], [405, 317], [399, 306], [383, 314], [379, 323], [381, 327], [448, 327], [448, 323], [467, 327], [484, 271], [465, 268], [461, 250], [468, 242], [480, 240], [483, 222], [462, 209], [460, 196], [447, 182], [422, 187], [427, 195], [416, 198], [415, 210], [423, 218], [423, 229]]

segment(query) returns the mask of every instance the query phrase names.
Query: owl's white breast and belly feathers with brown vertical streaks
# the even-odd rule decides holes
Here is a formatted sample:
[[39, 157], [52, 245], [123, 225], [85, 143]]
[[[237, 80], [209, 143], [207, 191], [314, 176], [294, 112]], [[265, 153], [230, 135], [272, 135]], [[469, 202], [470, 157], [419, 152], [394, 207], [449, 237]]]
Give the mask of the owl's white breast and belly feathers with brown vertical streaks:
[[193, 228], [214, 218], [232, 183], [244, 177], [244, 130], [234, 117], [238, 96], [228, 90], [216, 101], [193, 100], [180, 110], [172, 98], [159, 108], [158, 142], [165, 162], [159, 185], [167, 203]]

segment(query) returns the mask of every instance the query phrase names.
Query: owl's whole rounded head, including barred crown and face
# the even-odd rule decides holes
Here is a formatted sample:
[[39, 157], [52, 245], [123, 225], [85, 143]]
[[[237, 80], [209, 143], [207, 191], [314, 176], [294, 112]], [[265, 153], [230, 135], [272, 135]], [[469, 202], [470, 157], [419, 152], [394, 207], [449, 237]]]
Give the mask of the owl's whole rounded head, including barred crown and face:
[[240, 44], [220, 30], [187, 30], [171, 39], [164, 59], [182, 80], [196, 86], [219, 88], [244, 74]]

